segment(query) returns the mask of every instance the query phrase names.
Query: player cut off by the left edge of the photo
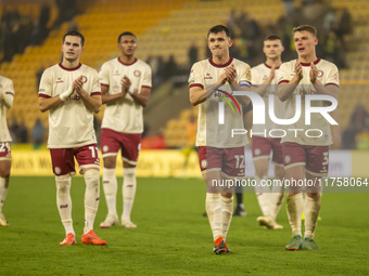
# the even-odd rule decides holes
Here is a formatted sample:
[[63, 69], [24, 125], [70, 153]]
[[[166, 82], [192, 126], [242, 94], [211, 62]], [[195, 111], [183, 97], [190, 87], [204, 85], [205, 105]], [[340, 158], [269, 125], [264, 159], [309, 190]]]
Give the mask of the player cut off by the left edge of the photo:
[[2, 206], [5, 201], [10, 170], [12, 166], [12, 155], [8, 123], [7, 123], [7, 109], [13, 106], [14, 88], [13, 81], [9, 78], [0, 76], [0, 226], [9, 226], [5, 215], [2, 213]]

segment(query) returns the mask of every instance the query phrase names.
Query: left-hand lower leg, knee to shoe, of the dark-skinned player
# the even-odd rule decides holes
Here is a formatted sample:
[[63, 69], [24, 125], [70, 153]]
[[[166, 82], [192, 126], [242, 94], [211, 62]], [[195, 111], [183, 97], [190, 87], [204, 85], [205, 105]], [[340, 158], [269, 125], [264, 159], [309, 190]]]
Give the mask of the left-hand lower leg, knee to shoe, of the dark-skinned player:
[[107, 215], [105, 221], [100, 223], [101, 228], [110, 228], [113, 225], [118, 225], [119, 220], [116, 212], [116, 194], [118, 189], [116, 176], [115, 176], [115, 166], [116, 156], [107, 156], [103, 158], [104, 168], [102, 175], [102, 187], [104, 189]]

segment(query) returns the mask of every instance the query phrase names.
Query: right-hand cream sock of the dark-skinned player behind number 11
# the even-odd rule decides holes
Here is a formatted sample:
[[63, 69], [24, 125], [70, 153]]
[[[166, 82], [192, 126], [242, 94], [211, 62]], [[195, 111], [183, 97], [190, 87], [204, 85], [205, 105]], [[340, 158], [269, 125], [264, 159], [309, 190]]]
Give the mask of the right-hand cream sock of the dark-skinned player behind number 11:
[[136, 168], [123, 168], [123, 214], [122, 221], [130, 221], [136, 195]]

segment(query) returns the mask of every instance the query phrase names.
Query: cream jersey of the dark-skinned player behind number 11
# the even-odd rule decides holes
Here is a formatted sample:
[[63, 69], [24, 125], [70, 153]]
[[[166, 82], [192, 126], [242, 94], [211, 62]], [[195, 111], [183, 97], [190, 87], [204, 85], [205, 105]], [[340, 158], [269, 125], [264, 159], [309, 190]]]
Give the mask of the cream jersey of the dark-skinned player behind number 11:
[[[127, 76], [131, 81], [131, 90], [141, 88], [151, 89], [151, 68], [140, 61], [135, 60], [131, 64], [120, 62], [119, 57], [104, 63], [99, 73], [101, 86], [109, 87], [109, 94], [122, 92], [120, 80]], [[102, 129], [112, 129], [123, 133], [143, 132], [143, 107], [127, 93], [124, 98], [119, 98], [112, 104], [106, 104]]]

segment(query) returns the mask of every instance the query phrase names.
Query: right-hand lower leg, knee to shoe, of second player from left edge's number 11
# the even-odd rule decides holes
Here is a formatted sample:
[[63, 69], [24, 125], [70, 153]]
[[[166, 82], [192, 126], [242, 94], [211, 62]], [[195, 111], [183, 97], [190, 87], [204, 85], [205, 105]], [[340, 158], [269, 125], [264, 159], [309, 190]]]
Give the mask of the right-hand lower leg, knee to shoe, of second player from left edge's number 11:
[[123, 214], [122, 226], [126, 228], [136, 228], [137, 225], [131, 222], [130, 213], [132, 211], [137, 180], [136, 180], [136, 166], [129, 162], [123, 162]]

